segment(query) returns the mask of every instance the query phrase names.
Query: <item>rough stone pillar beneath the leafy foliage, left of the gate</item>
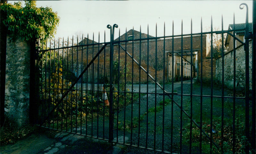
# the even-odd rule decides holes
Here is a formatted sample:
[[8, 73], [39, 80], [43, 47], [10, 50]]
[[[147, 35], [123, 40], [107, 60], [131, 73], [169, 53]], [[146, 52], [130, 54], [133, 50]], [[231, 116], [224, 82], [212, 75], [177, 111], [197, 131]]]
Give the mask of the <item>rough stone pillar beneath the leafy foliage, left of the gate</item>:
[[5, 113], [18, 127], [29, 122], [30, 48], [25, 41], [7, 36]]

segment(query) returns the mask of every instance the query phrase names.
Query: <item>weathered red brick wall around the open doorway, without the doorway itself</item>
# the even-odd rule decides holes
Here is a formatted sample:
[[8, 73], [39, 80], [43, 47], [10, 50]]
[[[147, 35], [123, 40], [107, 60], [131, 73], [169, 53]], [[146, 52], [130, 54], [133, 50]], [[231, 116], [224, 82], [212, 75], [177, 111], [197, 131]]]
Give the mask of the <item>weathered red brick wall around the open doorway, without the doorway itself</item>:
[[[134, 39], [139, 39], [140, 38], [140, 32], [134, 31]], [[132, 35], [132, 30], [127, 32], [127, 36], [128, 35]], [[147, 38], [147, 34], [141, 34], [141, 38]], [[152, 36], [149, 36], [152, 37]], [[208, 42], [206, 39], [206, 35], [203, 35], [202, 37], [202, 48], [203, 48], [203, 59], [205, 59], [205, 57], [207, 55], [210, 55], [209, 52], [209, 48], [208, 48]], [[119, 39], [116, 39], [119, 40]], [[125, 34], [120, 36], [120, 40], [125, 40]], [[190, 50], [191, 48], [191, 38], [190, 36], [186, 36], [183, 37], [183, 50]], [[200, 63], [201, 63], [201, 36], [200, 35], [196, 35], [193, 36], [192, 38], [192, 43], [193, 43], [193, 49], [197, 49], [197, 54], [198, 54], [198, 70], [200, 70]], [[120, 43], [120, 45], [126, 49], [126, 51], [137, 61], [139, 62], [141, 60], [141, 66], [149, 71], [149, 74], [156, 78], [158, 82], [163, 82], [163, 75], [165, 75], [165, 82], [167, 81], [167, 64], [168, 64], [168, 60], [167, 60], [167, 51], [172, 51], [172, 38], [166, 38], [165, 39], [165, 49], [164, 49], [164, 40], [163, 39], [151, 39], [151, 40], [141, 40], [141, 44], [140, 41], [134, 41], [132, 43], [132, 41], [129, 41], [126, 43], [125, 46], [125, 42]], [[100, 47], [101, 48], [101, 47]], [[88, 62], [90, 62], [90, 60], [92, 59], [92, 50], [93, 50], [93, 55], [96, 55], [98, 50], [100, 49], [94, 46], [94, 48], [90, 48], [88, 50]], [[174, 44], [173, 44], [173, 48], [175, 51], [179, 51], [181, 50], [181, 37], [175, 37], [174, 38]], [[104, 52], [104, 51], [103, 51]], [[95, 64], [100, 64], [100, 65], [104, 65], [104, 59], [106, 62], [106, 65], [109, 65], [109, 47], [107, 46], [105, 49], [106, 52], [106, 56], [104, 58], [104, 54], [103, 52], [100, 54], [100, 58], [95, 60]], [[189, 51], [190, 52], [190, 51]], [[87, 56], [85, 56], [87, 53], [87, 50], [84, 49], [83, 50], [83, 62], [85, 63], [87, 60]], [[81, 55], [81, 50], [79, 50], [78, 55]], [[120, 57], [121, 62], [125, 62], [125, 52], [124, 50], [119, 47], [117, 44], [114, 45], [114, 60], [118, 57]], [[75, 55], [76, 56], [76, 55]], [[74, 56], [74, 59], [76, 59], [76, 57]], [[81, 57], [81, 56], [79, 56]], [[164, 59], [165, 57], [165, 59]], [[156, 60], [157, 58], [157, 60]], [[149, 59], [149, 61], [147, 60]], [[79, 60], [81, 61], [81, 60]], [[98, 63], [99, 61], [99, 63]], [[165, 66], [163, 66], [165, 61]], [[206, 61], [207, 62], [207, 61]], [[129, 68], [129, 71], [127, 71], [128, 76], [130, 76], [128, 78], [128, 82], [132, 81], [132, 76], [133, 76], [133, 82], [134, 83], [138, 83], [139, 82], [139, 76], [141, 78], [141, 82], [145, 83], [147, 82], [147, 73], [145, 73], [143, 70], [141, 70], [141, 73], [139, 74], [139, 66], [133, 62], [133, 71], [132, 71], [132, 58], [129, 57], [128, 55], [126, 55], [126, 63], [127, 63], [127, 68]], [[207, 65], [208, 66], [208, 65]], [[155, 70], [155, 68], [157, 68], [157, 70]], [[215, 68], [215, 67], [214, 67]], [[209, 79], [209, 77], [206, 75], [208, 74], [208, 68], [204, 68], [205, 70], [205, 74], [204, 75], [204, 79]], [[215, 74], [215, 72], [214, 72]], [[200, 77], [200, 71], [199, 71], [199, 77]], [[151, 79], [149, 79], [149, 82], [153, 82]]]

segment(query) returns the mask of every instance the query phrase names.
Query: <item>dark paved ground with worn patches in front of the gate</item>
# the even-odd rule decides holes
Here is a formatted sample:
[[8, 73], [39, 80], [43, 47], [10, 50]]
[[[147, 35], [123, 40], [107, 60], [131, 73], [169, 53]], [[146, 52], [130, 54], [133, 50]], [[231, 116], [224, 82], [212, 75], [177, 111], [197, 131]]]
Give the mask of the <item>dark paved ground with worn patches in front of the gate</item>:
[[[43, 128], [41, 128], [43, 129]], [[43, 133], [33, 133], [15, 144], [1, 146], [1, 154], [54, 154], [54, 153], [156, 153], [149, 150], [114, 145], [108, 141], [69, 134], [65, 132], [44, 130]], [[159, 153], [159, 152], [158, 152]]]

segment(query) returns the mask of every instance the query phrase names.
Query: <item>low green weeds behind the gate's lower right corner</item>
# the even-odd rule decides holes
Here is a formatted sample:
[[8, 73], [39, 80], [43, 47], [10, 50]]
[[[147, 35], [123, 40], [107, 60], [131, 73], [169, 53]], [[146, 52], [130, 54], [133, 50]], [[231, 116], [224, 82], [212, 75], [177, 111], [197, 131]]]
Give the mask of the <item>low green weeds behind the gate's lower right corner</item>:
[[[208, 98], [209, 99], [209, 98]], [[197, 101], [193, 99], [193, 119], [200, 125], [200, 105], [196, 105]], [[204, 99], [204, 101], [207, 101]], [[211, 130], [211, 119], [209, 114], [209, 109], [211, 103], [203, 104], [203, 108], [207, 108], [208, 111], [202, 112], [203, 122], [202, 122], [202, 130], [208, 136], [211, 136], [213, 142], [216, 143], [219, 147], [223, 148], [224, 153], [233, 153], [233, 110], [235, 110], [235, 153], [244, 153], [245, 145], [249, 144], [248, 139], [245, 134], [245, 107], [243, 105], [236, 104], [235, 109], [233, 109], [233, 101], [226, 100], [224, 102], [224, 117], [223, 117], [223, 125], [221, 124], [222, 115], [221, 115], [221, 99], [214, 99], [212, 102], [213, 108], [213, 119], [212, 119], [212, 130]], [[190, 110], [190, 100], [187, 100], [184, 103], [184, 109]], [[251, 113], [250, 113], [251, 114]], [[223, 127], [223, 144], [221, 144], [221, 131]], [[251, 127], [251, 126], [250, 126]], [[192, 143], [192, 148], [199, 149], [200, 145], [200, 128], [196, 127], [195, 124], [192, 125], [192, 140], [190, 141], [190, 123], [185, 125], [184, 138], [183, 143], [189, 145]], [[214, 153], [221, 153], [221, 149], [216, 148], [215, 145], [212, 144], [212, 149], [210, 149], [210, 139], [207, 138], [204, 133], [202, 133], [202, 152], [209, 153], [211, 150]]]

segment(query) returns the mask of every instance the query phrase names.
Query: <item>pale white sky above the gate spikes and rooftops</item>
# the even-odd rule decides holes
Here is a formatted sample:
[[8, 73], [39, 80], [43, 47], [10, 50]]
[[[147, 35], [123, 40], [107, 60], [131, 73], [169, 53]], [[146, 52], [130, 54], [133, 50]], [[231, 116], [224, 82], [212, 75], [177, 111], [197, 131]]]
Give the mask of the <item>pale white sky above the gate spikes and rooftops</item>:
[[[8, 2], [13, 3], [13, 2]], [[98, 42], [104, 41], [104, 31], [106, 40], [109, 41], [110, 30], [107, 25], [118, 25], [115, 29], [115, 39], [132, 29], [147, 33], [149, 25], [149, 35], [157, 36], [172, 35], [172, 21], [174, 22], [174, 35], [181, 34], [181, 21], [183, 21], [183, 34], [192, 32], [199, 33], [201, 17], [203, 30], [211, 26], [211, 16], [213, 27], [221, 27], [221, 15], [223, 15], [224, 30], [228, 29], [229, 24], [233, 24], [235, 13], [235, 23], [244, 23], [246, 9], [239, 9], [239, 5], [246, 3], [249, 8], [249, 22], [252, 22], [252, 1], [37, 1], [37, 7], [49, 6], [54, 12], [58, 13], [60, 23], [55, 35], [56, 38], [77, 35], [84, 33], [89, 39]]]

